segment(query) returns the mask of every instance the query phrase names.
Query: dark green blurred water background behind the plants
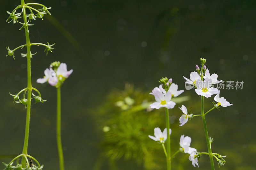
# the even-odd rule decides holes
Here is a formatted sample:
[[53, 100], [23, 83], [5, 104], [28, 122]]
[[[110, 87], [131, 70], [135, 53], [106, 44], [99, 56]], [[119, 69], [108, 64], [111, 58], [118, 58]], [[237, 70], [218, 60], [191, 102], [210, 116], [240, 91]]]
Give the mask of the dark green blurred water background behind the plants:
[[[221, 169], [256, 169], [255, 2], [36, 2], [51, 6], [52, 16], [80, 44], [74, 48], [47, 18], [36, 19], [35, 26], [30, 27], [32, 42], [56, 42], [55, 49], [47, 56], [43, 47], [32, 48], [32, 53], [38, 51], [32, 58], [32, 85], [47, 102], [32, 106], [28, 152], [44, 164], [44, 169], [58, 169], [56, 90], [36, 83], [50, 63], [58, 60], [67, 63], [68, 70], [74, 69], [62, 86], [66, 169], [91, 170], [100, 154], [97, 144], [101, 137], [96, 135], [90, 112], [101, 105], [106, 94], [114, 87], [123, 89], [125, 82], [149, 92], [163, 76], [173, 78], [180, 89], [185, 89], [182, 76], [189, 77], [195, 65], [200, 64], [200, 57], [207, 59], [207, 68], [210, 73], [217, 73], [219, 79], [244, 81], [242, 90], [221, 91], [221, 96], [233, 103], [232, 107], [222, 108], [222, 112], [216, 110], [206, 118], [209, 134], [214, 138], [214, 150], [228, 155], [228, 163]], [[15, 61], [11, 56], [5, 57], [5, 46], [13, 49], [25, 43], [20, 24], [13, 26], [5, 22], [8, 18], [5, 11], [12, 11], [17, 5], [19, 1], [0, 1], [0, 155], [20, 154], [24, 139], [25, 109], [12, 103], [9, 92], [16, 93], [26, 87], [26, 58], [20, 57], [20, 50], [15, 53]], [[171, 11], [174, 7], [179, 9], [177, 13]], [[143, 41], [146, 47], [142, 47]], [[25, 53], [25, 49], [21, 52]], [[200, 100], [193, 91], [186, 94], [192, 100]], [[198, 129], [187, 133], [192, 139], [195, 133], [203, 133], [202, 122], [198, 121], [196, 126]], [[186, 133], [186, 129], [179, 130], [180, 134]], [[201, 140], [206, 150], [205, 139]], [[208, 161], [207, 157], [204, 159]], [[200, 169], [209, 169], [207, 161]], [[216, 162], [215, 165], [217, 169]], [[184, 168], [193, 167], [189, 163]], [[118, 162], [118, 169], [142, 167], [131, 160]]]

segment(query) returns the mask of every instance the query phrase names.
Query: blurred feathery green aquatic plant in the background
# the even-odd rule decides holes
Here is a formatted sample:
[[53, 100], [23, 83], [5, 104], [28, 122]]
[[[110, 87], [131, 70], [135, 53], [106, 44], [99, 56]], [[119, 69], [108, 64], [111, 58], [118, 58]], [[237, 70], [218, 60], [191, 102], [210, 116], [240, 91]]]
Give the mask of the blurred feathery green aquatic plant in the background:
[[[189, 100], [188, 96], [177, 97], [175, 102]], [[102, 156], [116, 161], [133, 159], [145, 169], [163, 169], [164, 154], [161, 145], [148, 138], [153, 127], [164, 128], [164, 114], [152, 110], [152, 98], [148, 92], [134, 89], [126, 84], [124, 90], [113, 90], [97, 109], [97, 127], [103, 133], [100, 144]], [[96, 169], [101, 167], [97, 163]]]

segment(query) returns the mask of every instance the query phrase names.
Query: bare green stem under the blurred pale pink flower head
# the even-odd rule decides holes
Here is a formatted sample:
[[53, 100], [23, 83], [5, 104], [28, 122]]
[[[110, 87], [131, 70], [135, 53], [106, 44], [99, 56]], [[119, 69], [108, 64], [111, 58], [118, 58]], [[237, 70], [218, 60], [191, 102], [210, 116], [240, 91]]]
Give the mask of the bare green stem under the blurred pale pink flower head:
[[60, 87], [57, 88], [57, 128], [56, 128], [56, 136], [57, 136], [57, 146], [59, 152], [59, 162], [60, 162], [60, 170], [64, 170], [64, 158], [61, 144], [61, 100], [60, 100]]

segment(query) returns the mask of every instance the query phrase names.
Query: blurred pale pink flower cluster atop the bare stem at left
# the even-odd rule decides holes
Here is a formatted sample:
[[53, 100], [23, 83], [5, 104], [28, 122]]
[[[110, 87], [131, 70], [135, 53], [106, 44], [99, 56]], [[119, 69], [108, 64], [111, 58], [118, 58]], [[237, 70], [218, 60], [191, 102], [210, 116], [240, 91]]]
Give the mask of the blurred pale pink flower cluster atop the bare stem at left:
[[66, 63], [53, 62], [49, 69], [44, 70], [44, 78], [38, 78], [36, 82], [41, 84], [48, 82], [50, 85], [58, 88], [72, 72], [73, 69], [67, 70]]

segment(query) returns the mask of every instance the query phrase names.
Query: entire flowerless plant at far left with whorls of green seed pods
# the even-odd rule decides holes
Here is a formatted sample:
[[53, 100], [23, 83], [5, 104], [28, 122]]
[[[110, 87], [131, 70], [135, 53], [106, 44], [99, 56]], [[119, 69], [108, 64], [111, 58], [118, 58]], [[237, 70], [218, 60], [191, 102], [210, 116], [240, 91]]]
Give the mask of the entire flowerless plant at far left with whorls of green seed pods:
[[[37, 5], [37, 6], [41, 6], [42, 8], [39, 10], [36, 10], [35, 8], [33, 8], [33, 5]], [[20, 92], [18, 92], [17, 94], [11, 94], [13, 96], [14, 102], [16, 103], [21, 103], [23, 104], [26, 108], [27, 108], [27, 116], [26, 116], [26, 127], [25, 127], [25, 138], [24, 138], [24, 146], [23, 146], [23, 151], [22, 154], [18, 155], [16, 158], [12, 159], [12, 161], [9, 164], [5, 164], [6, 166], [6, 170], [11, 170], [11, 169], [23, 169], [23, 170], [41, 170], [43, 168], [43, 166], [40, 166], [39, 162], [33, 158], [32, 156], [28, 155], [28, 135], [29, 135], [29, 121], [30, 121], [30, 107], [31, 107], [31, 97], [33, 96], [33, 98], [35, 99], [36, 103], [37, 102], [44, 102], [46, 100], [43, 100], [41, 98], [41, 93], [34, 87], [32, 87], [31, 84], [31, 64], [30, 64], [30, 60], [32, 58], [32, 55], [35, 55], [36, 53], [31, 53], [31, 46], [33, 45], [43, 45], [45, 46], [45, 51], [46, 51], [46, 55], [48, 54], [48, 51], [51, 51], [53, 48], [52, 46], [54, 45], [50, 45], [49, 43], [47, 44], [42, 44], [42, 43], [30, 43], [30, 39], [29, 39], [29, 26], [33, 26], [33, 24], [31, 23], [31, 20], [36, 20], [36, 18], [42, 18], [44, 14], [48, 13], [50, 14], [50, 12], [48, 11], [51, 8], [47, 8], [46, 6], [42, 5], [42, 4], [37, 4], [37, 3], [28, 3], [25, 4], [24, 0], [21, 0], [21, 4], [18, 5], [12, 12], [7, 11], [7, 13], [10, 15], [7, 18], [7, 22], [13, 22], [13, 24], [15, 23], [20, 23], [21, 24], [21, 29], [24, 28], [25, 30], [25, 37], [26, 37], [26, 44], [21, 45], [17, 48], [11, 49], [10, 47], [6, 47], [6, 49], [8, 50], [8, 54], [6, 56], [12, 56], [13, 59], [14, 58], [14, 52], [19, 49], [19, 48], [23, 48], [26, 47], [27, 48], [27, 53], [22, 54], [22, 57], [27, 57], [27, 73], [28, 73], [28, 86], [24, 89], [22, 89]], [[20, 12], [17, 12], [20, 11]], [[28, 14], [26, 13], [27, 11]], [[51, 14], [50, 14], [51, 15]], [[23, 18], [22, 20], [19, 20], [20, 18]], [[52, 51], [51, 51], [52, 52]], [[32, 91], [35, 91], [36, 93], [33, 93]], [[23, 93], [23, 95], [22, 95]], [[32, 94], [32, 96], [31, 96]], [[21, 95], [21, 96], [20, 96]], [[33, 159], [36, 162], [36, 165], [34, 164], [30, 164], [28, 162], [28, 158]], [[19, 162], [19, 159], [21, 158], [21, 164]], [[13, 162], [16, 160], [16, 166], [13, 166]]]

